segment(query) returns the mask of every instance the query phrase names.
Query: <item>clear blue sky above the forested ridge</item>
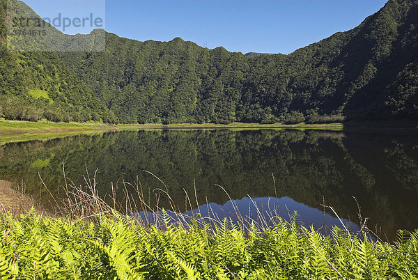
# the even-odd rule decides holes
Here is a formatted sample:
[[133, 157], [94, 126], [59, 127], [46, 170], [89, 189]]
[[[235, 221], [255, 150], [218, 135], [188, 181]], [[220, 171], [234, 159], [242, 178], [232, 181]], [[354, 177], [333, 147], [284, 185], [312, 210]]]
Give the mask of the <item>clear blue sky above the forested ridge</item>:
[[[104, 0], [24, 0], [42, 17], [57, 11], [100, 13], [95, 10], [102, 8], [100, 1]], [[104, 27], [118, 36], [141, 41], [181, 37], [210, 49], [223, 46], [231, 52], [288, 54], [352, 29], [386, 1], [106, 0]]]

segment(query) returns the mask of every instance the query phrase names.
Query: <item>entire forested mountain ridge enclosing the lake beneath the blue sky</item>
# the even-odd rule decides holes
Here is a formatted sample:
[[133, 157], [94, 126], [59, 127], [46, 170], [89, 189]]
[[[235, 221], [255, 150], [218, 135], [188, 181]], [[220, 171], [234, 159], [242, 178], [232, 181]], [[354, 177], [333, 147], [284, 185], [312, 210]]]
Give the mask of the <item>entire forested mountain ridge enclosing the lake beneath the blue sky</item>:
[[[389, 0], [355, 29], [289, 55], [251, 57], [181, 38], [139, 42], [112, 33], [104, 52], [6, 52], [5, 32], [2, 24], [6, 118], [28, 118], [26, 104], [37, 104], [39, 118], [121, 123], [418, 120], [418, 0]], [[52, 33], [68, 47], [88, 45], [95, 32], [86, 40]], [[5, 100], [24, 101], [11, 114]]]

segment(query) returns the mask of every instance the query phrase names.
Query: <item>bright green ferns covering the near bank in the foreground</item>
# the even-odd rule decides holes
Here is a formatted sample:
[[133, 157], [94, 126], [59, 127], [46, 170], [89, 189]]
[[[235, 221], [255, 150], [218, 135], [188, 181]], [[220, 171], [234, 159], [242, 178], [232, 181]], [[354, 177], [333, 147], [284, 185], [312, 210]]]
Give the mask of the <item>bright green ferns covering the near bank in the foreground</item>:
[[418, 231], [394, 244], [278, 221], [145, 227], [129, 217], [0, 217], [2, 279], [416, 279]]

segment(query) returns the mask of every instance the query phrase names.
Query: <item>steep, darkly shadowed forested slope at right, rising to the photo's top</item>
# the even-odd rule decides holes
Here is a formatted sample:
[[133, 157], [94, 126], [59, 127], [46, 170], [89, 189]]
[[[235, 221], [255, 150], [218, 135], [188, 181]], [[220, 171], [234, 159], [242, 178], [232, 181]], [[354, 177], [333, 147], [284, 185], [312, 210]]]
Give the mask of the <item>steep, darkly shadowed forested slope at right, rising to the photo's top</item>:
[[317, 106], [350, 119], [417, 119], [417, 92], [407, 90], [417, 79], [403, 78], [417, 73], [417, 9], [418, 1], [389, 1], [357, 28], [289, 55], [297, 70], [288, 73], [294, 108]]

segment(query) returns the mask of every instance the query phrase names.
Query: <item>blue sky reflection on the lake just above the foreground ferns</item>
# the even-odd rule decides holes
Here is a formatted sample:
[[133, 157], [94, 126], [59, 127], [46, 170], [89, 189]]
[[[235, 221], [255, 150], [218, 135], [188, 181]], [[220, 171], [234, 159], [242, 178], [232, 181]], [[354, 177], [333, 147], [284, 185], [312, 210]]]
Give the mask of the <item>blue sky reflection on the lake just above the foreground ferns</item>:
[[[275, 199], [274, 197], [249, 199], [249, 197], [245, 197], [244, 199], [234, 200], [233, 202], [235, 203], [236, 208], [238, 208], [238, 212], [240, 212], [240, 215], [242, 215], [244, 219], [251, 215], [252, 219], [258, 221], [258, 208], [258, 211], [261, 212], [261, 215], [263, 215], [267, 221], [270, 220], [270, 217], [272, 216], [271, 213], [274, 212], [277, 212], [279, 216], [286, 221], [290, 221], [289, 215], [292, 215], [296, 211], [297, 214], [300, 215], [300, 219], [305, 227], [314, 226], [314, 228], [319, 229], [323, 227], [325, 221], [326, 228], [328, 229], [333, 226], [343, 228], [341, 222], [336, 217], [328, 214], [327, 212], [325, 212], [324, 217], [323, 211], [311, 208], [303, 203], [298, 203], [286, 196], [281, 199]], [[228, 201], [224, 205], [219, 205], [217, 203], [201, 205], [199, 208], [192, 211], [186, 211], [183, 214], [191, 217], [198, 213], [200, 213], [202, 217], [214, 217], [215, 215], [217, 219], [224, 219], [224, 217], [228, 217], [233, 219], [233, 221], [238, 221], [238, 217], [235, 214], [235, 209], [231, 201]], [[161, 214], [161, 212], [157, 212], [157, 215], [158, 214]], [[140, 212], [138, 215], [142, 218], [146, 217], [146, 215], [148, 215], [148, 217], [152, 216], [149, 212]], [[170, 215], [171, 217], [174, 217], [173, 214]], [[348, 221], [347, 219], [342, 219], [342, 221], [347, 228], [350, 229], [350, 231], [359, 231], [359, 226], [357, 226], [357, 224]], [[272, 226], [272, 222], [268, 225]]]

